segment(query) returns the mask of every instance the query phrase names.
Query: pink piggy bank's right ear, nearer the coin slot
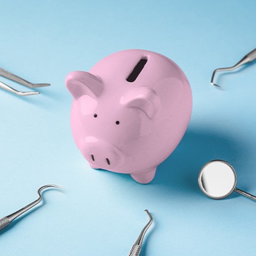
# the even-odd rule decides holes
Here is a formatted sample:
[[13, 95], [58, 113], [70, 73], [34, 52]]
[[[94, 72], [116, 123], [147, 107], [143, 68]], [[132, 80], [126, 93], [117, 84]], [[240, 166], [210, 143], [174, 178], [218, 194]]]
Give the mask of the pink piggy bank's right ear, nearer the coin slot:
[[120, 103], [127, 108], [138, 108], [152, 119], [159, 108], [159, 97], [156, 91], [148, 87], [139, 87], [122, 97]]

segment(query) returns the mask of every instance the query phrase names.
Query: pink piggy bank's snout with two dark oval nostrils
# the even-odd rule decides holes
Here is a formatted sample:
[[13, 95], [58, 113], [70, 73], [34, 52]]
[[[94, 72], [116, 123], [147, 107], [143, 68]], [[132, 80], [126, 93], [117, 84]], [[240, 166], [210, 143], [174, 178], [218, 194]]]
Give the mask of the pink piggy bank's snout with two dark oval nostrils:
[[95, 137], [85, 138], [84, 157], [94, 168], [111, 169], [122, 163], [122, 152], [111, 143]]

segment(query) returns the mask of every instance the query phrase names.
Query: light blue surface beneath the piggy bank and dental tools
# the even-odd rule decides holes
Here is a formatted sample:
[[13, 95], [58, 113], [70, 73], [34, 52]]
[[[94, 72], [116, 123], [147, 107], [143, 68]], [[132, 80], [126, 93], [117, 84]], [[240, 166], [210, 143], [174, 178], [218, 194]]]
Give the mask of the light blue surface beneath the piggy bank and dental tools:
[[[0, 67], [42, 94], [0, 90], [0, 214], [44, 193], [44, 205], [1, 231], [1, 255], [127, 255], [154, 217], [141, 255], [255, 255], [256, 204], [233, 193], [211, 200], [197, 176], [225, 159], [237, 187], [256, 194], [255, 64], [218, 76], [256, 47], [256, 1], [1, 1]], [[89, 70], [123, 49], [147, 49], [175, 61], [193, 90], [193, 115], [175, 152], [148, 185], [92, 170], [70, 131], [65, 76]], [[27, 90], [12, 81], [0, 79]]]

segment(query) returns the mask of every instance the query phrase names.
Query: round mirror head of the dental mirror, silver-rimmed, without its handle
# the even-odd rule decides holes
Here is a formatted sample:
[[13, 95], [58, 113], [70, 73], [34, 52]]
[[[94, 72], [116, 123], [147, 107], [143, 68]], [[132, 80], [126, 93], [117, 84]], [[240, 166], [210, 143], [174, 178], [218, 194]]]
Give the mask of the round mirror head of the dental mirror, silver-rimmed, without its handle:
[[214, 160], [200, 170], [198, 183], [205, 195], [214, 199], [225, 198], [236, 188], [236, 172], [227, 162]]

